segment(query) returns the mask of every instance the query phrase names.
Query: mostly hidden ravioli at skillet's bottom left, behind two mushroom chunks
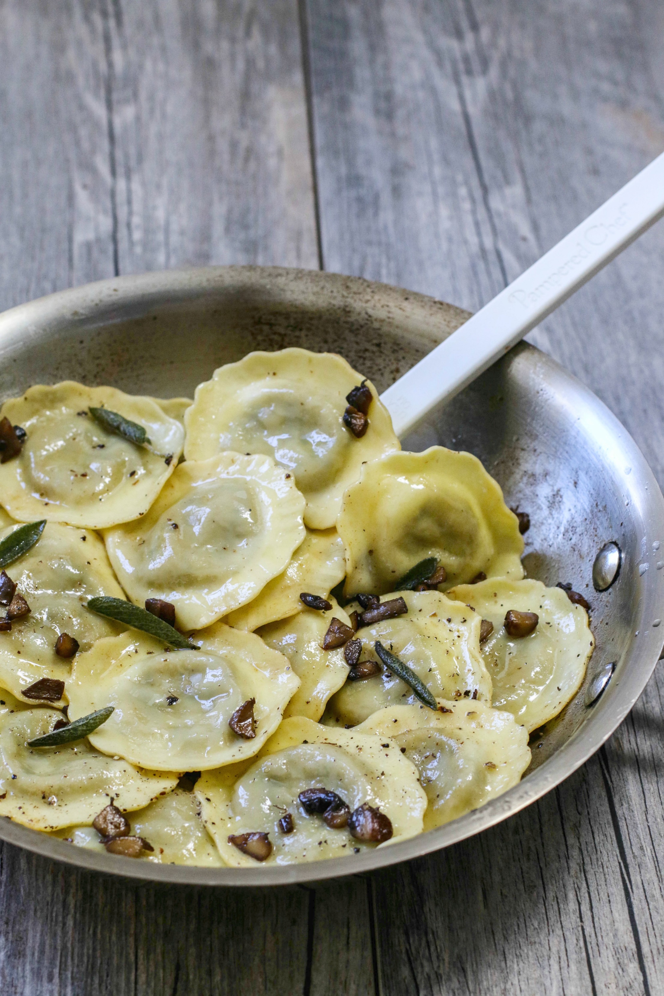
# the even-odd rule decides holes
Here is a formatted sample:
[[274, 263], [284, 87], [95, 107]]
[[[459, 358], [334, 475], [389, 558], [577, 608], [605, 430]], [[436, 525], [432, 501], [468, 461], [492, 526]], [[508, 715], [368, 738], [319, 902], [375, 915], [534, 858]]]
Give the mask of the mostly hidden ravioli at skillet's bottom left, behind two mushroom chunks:
[[[139, 861], [157, 865], [200, 865], [211, 868], [219, 868], [224, 864], [205, 830], [200, 803], [193, 792], [175, 789], [160, 796], [149, 806], [132, 813], [130, 826], [132, 835], [142, 837], [154, 849], [143, 851]], [[101, 854], [106, 852], [94, 827], [67, 827], [52, 836], [78, 848], [88, 848]]]

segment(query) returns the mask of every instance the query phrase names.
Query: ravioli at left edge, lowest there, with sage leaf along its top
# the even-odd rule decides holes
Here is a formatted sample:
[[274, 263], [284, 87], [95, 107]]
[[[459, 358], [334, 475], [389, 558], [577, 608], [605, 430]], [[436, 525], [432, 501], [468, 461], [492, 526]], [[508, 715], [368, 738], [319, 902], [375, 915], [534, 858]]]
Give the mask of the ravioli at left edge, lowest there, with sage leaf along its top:
[[118, 809], [136, 810], [177, 784], [177, 775], [139, 771], [88, 740], [28, 747], [61, 716], [25, 707], [0, 690], [0, 816], [35, 830], [91, 824], [111, 799]]

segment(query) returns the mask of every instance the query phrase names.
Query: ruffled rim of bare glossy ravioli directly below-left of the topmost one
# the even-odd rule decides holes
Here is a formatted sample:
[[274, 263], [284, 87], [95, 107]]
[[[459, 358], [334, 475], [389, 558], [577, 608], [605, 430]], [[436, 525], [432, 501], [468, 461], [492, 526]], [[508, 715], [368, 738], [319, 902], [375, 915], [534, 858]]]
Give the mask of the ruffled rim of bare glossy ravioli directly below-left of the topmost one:
[[[218, 480], [248, 482], [261, 504], [264, 539], [260, 553], [245, 559], [241, 570], [224, 575], [221, 570], [217, 584], [188, 585], [180, 581], [173, 588], [159, 586], [156, 581], [145, 583], [134, 576], [132, 561], [139, 564], [146, 535], [173, 505], [187, 495], [195, 496], [198, 486]], [[176, 468], [161, 494], [139, 522], [127, 523], [107, 530], [104, 539], [111, 564], [129, 599], [142, 606], [145, 599], [159, 598], [175, 606], [178, 625], [183, 629], [201, 629], [240, 606], [251, 602], [288, 565], [293, 553], [305, 539], [302, 521], [305, 499], [292, 478], [286, 478], [282, 468], [269, 456], [242, 456], [226, 451], [209, 460], [186, 460]], [[223, 510], [222, 510], [223, 511]], [[182, 531], [178, 533], [178, 537]], [[171, 537], [169, 542], [178, 542]], [[180, 550], [182, 558], [186, 553]], [[191, 569], [189, 573], [193, 573]]]

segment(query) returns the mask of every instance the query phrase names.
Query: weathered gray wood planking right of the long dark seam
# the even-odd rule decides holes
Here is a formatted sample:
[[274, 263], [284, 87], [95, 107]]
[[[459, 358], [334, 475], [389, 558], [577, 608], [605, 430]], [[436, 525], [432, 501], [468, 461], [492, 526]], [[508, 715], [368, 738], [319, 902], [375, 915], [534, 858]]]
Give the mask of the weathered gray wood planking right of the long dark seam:
[[[308, 0], [324, 265], [475, 309], [664, 146], [650, 0]], [[664, 480], [664, 228], [532, 337]], [[660, 665], [661, 667], [661, 665]], [[375, 877], [384, 994], [664, 988], [662, 677], [538, 806]]]

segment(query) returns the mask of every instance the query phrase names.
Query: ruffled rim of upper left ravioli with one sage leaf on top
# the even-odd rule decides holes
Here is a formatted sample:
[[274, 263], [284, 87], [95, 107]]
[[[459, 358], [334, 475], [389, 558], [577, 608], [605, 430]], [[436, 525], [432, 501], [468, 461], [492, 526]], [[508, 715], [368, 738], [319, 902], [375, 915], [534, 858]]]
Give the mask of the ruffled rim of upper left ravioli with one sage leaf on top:
[[[45, 501], [28, 490], [25, 470], [30, 463], [30, 426], [44, 411], [53, 408], [71, 410], [74, 419], [78, 411], [90, 407], [106, 407], [124, 418], [142, 425], [151, 440], [149, 448], [112, 435], [115, 446], [122, 445], [132, 471], [121, 483], [102, 498], [91, 498], [72, 508], [66, 495], [59, 501]], [[0, 494], [8, 512], [21, 522], [49, 519], [71, 526], [105, 529], [120, 522], [129, 522], [144, 515], [166, 480], [170, 477], [184, 446], [184, 431], [173, 418], [149, 397], [125, 394], [115, 387], [87, 387], [74, 380], [46, 386], [29, 387], [22, 397], [11, 398], [2, 405], [0, 417], [7, 416], [13, 425], [21, 425], [28, 438], [18, 456], [0, 464]], [[91, 417], [91, 416], [88, 416]], [[99, 426], [101, 433], [105, 430]], [[168, 462], [166, 462], [166, 460]], [[72, 478], [72, 490], [75, 487]]]

